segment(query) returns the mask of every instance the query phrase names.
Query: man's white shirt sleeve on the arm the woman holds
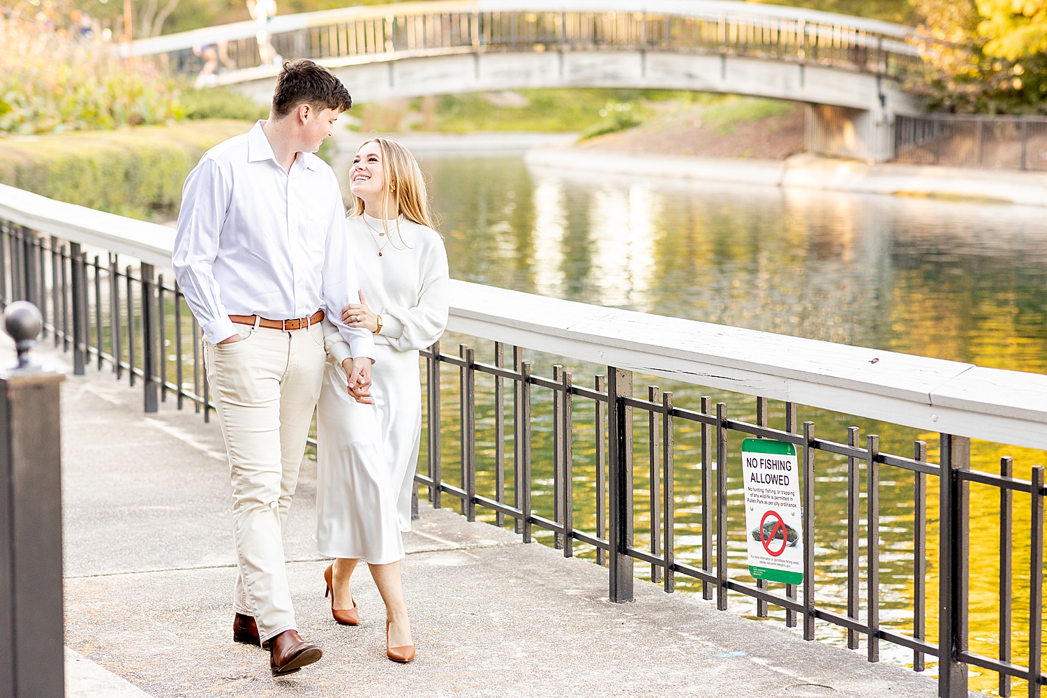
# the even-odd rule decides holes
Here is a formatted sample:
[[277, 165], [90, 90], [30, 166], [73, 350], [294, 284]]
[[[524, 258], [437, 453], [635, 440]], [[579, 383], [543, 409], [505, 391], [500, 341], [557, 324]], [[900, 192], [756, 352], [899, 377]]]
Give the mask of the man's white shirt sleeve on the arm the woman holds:
[[374, 361], [375, 339], [371, 331], [364, 328], [351, 328], [341, 320], [342, 308], [349, 303], [360, 302], [360, 284], [356, 274], [356, 261], [346, 232], [346, 209], [341, 202], [341, 192], [334, 175], [331, 176], [331, 180], [335, 205], [332, 206], [328, 223], [321, 272], [320, 296], [324, 300], [324, 314], [338, 330], [338, 334], [349, 342], [349, 351], [354, 359], [367, 358]]

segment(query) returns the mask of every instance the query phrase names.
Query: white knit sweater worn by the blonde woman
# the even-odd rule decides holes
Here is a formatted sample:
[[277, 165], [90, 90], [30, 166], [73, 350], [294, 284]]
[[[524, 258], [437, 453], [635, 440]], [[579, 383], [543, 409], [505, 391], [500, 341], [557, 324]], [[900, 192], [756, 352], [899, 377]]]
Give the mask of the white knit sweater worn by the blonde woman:
[[[447, 251], [440, 233], [402, 216], [381, 221], [366, 213], [346, 219], [346, 233], [360, 289], [371, 310], [382, 317], [375, 344], [410, 352], [440, 339], [448, 303]], [[330, 360], [341, 363], [352, 356], [349, 343], [328, 320], [324, 336]]]

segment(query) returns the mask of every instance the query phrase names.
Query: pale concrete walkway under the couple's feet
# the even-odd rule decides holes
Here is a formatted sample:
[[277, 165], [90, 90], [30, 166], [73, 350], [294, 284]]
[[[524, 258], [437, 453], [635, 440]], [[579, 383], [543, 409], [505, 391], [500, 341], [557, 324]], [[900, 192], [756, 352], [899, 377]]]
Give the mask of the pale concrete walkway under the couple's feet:
[[230, 490], [218, 425], [170, 399], [147, 416], [140, 387], [94, 368], [69, 377], [63, 414], [69, 696], [936, 695], [933, 679], [907, 669], [645, 582], [636, 603], [608, 603], [605, 568], [424, 504], [405, 537], [418, 658], [392, 663], [362, 565], [354, 578], [362, 625], [331, 618], [327, 562], [311, 540], [308, 460], [285, 546], [299, 628], [325, 656], [274, 680], [262, 650], [231, 639]]

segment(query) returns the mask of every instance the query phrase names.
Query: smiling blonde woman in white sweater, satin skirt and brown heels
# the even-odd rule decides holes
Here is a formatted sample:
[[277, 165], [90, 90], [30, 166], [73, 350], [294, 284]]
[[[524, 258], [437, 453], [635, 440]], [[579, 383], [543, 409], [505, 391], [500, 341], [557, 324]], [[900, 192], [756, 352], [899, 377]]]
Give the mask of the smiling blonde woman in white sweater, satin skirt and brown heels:
[[414, 658], [415, 644], [400, 585], [401, 534], [410, 531], [421, 442], [418, 351], [447, 325], [447, 253], [433, 229], [422, 172], [400, 143], [363, 143], [353, 159], [350, 190], [347, 232], [356, 250], [360, 302], [347, 306], [342, 319], [375, 333], [374, 405], [359, 404], [349, 392], [349, 344], [326, 323], [316, 539], [322, 555], [336, 558], [325, 570], [335, 620], [359, 624], [350, 577], [363, 560], [385, 602], [386, 654], [405, 662]]

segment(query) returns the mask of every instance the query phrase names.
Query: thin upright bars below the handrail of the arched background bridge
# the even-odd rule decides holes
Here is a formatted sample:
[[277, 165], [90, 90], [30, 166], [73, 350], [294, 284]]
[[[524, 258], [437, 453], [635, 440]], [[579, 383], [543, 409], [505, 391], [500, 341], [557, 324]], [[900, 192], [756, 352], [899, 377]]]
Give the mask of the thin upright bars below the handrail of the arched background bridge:
[[[901, 76], [921, 66], [904, 39], [846, 23], [805, 22], [712, 13], [708, 16], [616, 12], [472, 12], [396, 5], [373, 16], [274, 32], [270, 41], [288, 58], [353, 59], [400, 53], [498, 50], [649, 50], [776, 59]], [[225, 42], [237, 69], [260, 65], [254, 38]], [[220, 46], [221, 49], [221, 46]], [[192, 48], [163, 54], [172, 69], [196, 72], [203, 66]]]

